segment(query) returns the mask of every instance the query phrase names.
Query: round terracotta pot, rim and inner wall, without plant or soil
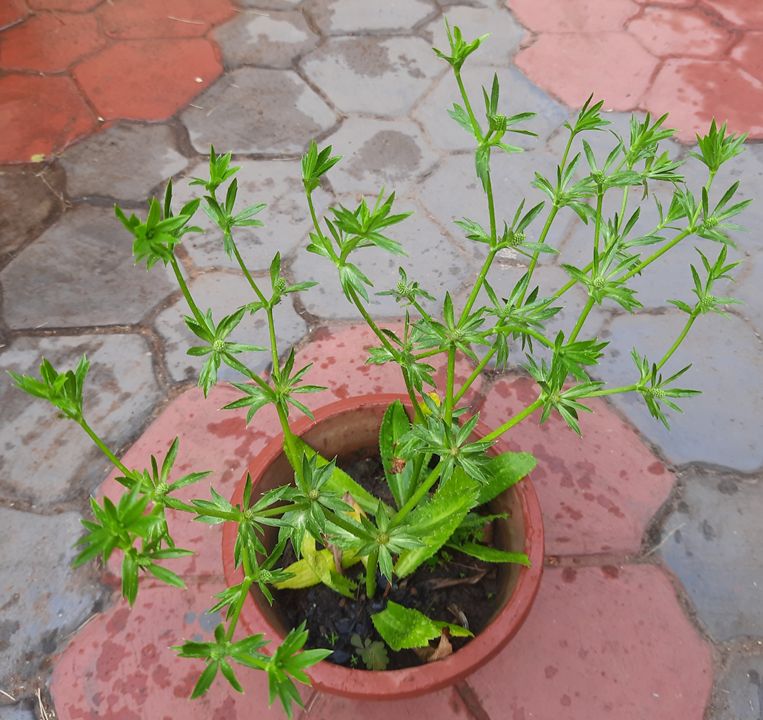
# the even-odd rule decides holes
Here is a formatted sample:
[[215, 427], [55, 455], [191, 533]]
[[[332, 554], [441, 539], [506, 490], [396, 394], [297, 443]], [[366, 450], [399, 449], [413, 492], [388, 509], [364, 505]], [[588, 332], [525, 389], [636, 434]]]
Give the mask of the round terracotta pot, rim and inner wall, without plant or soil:
[[[348, 398], [327, 405], [315, 413], [315, 421], [304, 418], [293, 426], [295, 433], [326, 457], [346, 456], [358, 450], [378, 448], [379, 426], [384, 411], [394, 400], [409, 404], [400, 395], [367, 395]], [[483, 426], [477, 434], [486, 435]], [[500, 452], [500, 446], [496, 448]], [[280, 438], [269, 443], [252, 460], [249, 473], [257, 491], [283, 485], [293, 476], [282, 452]], [[241, 503], [246, 476], [236, 488], [233, 503]], [[509, 519], [496, 524], [495, 540], [499, 547], [524, 551], [529, 568], [520, 565], [499, 566], [502, 585], [499, 610], [488, 626], [474, 639], [445, 660], [403, 670], [371, 672], [335, 665], [327, 661], [310, 668], [313, 684], [322, 692], [365, 700], [405, 698], [432, 692], [452, 685], [494, 657], [515, 635], [535, 599], [543, 571], [543, 522], [540, 505], [528, 479], [496, 498], [493, 512], [508, 512]], [[223, 528], [223, 566], [229, 585], [240, 583], [241, 569], [233, 566], [235, 525]], [[253, 591], [244, 604], [241, 621], [250, 633], [267, 638], [284, 637], [288, 628], [277, 611], [259, 591]]]

